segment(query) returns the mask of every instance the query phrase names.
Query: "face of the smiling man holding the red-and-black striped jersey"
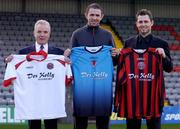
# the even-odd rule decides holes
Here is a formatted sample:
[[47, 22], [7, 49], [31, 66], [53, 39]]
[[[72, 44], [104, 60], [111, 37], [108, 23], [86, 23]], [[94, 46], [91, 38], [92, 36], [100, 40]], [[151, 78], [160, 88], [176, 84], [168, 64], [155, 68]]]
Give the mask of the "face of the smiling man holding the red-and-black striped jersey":
[[139, 33], [145, 37], [151, 33], [151, 27], [153, 26], [153, 21], [150, 20], [148, 15], [139, 15], [137, 17], [136, 26]]

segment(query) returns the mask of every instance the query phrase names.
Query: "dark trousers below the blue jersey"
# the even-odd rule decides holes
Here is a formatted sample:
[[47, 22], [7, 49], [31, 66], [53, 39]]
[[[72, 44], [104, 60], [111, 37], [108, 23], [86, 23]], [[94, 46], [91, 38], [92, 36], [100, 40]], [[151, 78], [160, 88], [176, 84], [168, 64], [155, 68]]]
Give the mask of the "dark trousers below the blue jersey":
[[[74, 129], [87, 129], [88, 117], [74, 117]], [[109, 116], [97, 116], [96, 117], [97, 129], [109, 129]]]

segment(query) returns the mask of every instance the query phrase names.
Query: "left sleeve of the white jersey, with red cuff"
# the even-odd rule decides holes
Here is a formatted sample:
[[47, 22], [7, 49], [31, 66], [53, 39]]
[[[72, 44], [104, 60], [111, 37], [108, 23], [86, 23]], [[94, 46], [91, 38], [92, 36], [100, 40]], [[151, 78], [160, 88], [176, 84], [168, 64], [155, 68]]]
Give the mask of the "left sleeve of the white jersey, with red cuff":
[[9, 62], [6, 67], [3, 86], [8, 87], [12, 84], [13, 80], [16, 79], [16, 69], [13, 62]]

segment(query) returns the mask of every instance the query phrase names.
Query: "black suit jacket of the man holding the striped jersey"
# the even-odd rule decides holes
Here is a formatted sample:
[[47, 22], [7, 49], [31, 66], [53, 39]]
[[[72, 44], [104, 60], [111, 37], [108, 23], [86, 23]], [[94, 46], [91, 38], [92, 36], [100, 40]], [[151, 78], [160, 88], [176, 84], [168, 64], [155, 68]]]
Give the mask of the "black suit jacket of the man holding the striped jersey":
[[[138, 42], [138, 35], [133, 36], [125, 41], [124, 48], [130, 47], [130, 48], [137, 48], [137, 42]], [[165, 40], [160, 39], [157, 36], [152, 35], [152, 38], [150, 42], [148, 43], [148, 47], [152, 48], [163, 48], [166, 54], [166, 58], [163, 59], [163, 69], [166, 72], [170, 72], [173, 69], [173, 64], [169, 52], [169, 46], [168, 43]]]

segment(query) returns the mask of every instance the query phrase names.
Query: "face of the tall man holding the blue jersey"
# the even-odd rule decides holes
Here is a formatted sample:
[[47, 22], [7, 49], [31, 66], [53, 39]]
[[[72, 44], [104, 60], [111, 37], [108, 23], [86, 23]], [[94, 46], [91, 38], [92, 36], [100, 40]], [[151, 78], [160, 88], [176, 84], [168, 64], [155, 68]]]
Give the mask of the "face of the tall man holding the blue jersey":
[[100, 9], [90, 8], [85, 16], [89, 26], [98, 26], [104, 15]]

